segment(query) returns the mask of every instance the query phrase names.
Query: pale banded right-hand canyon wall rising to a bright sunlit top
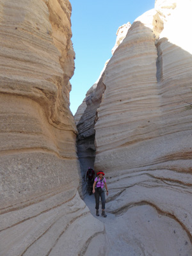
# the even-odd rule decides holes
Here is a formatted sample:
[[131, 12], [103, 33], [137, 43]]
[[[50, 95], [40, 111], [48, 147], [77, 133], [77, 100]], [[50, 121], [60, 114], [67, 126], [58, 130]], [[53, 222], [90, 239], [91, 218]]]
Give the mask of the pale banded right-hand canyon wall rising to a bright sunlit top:
[[130, 255], [192, 254], [191, 12], [157, 0], [138, 17], [77, 124], [79, 137], [95, 131], [94, 168]]

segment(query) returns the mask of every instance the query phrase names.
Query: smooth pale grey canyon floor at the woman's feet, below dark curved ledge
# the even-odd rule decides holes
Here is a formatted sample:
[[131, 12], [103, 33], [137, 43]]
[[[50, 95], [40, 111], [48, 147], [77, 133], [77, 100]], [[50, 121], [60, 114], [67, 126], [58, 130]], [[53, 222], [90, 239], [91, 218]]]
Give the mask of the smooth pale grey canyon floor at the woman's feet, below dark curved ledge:
[[[191, 241], [179, 223], [168, 216], [159, 214], [150, 205], [133, 205], [123, 214], [115, 215], [108, 212], [108, 204], [106, 204], [108, 217], [103, 218], [95, 216], [94, 195], [86, 195], [84, 202], [92, 215], [104, 223], [106, 252], [101, 252], [100, 255], [192, 255]], [[97, 236], [92, 239], [90, 245], [92, 243], [98, 243], [98, 246], [101, 246], [97, 241]], [[85, 255], [91, 255], [90, 253], [88, 247]]]

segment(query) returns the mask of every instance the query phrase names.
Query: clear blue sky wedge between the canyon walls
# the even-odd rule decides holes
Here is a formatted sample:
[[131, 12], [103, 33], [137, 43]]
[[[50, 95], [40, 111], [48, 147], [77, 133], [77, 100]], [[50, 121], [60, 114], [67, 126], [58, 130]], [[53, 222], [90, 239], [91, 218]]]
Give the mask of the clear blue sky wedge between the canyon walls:
[[75, 115], [86, 92], [111, 58], [117, 29], [154, 8], [155, 0], [70, 0], [75, 72], [70, 83], [70, 109]]

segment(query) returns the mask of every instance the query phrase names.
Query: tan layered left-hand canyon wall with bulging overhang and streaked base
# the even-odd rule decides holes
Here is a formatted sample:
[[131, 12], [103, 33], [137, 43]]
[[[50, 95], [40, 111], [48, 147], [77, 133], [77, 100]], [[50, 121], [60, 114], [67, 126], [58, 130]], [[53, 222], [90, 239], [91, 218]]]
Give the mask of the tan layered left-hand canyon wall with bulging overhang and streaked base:
[[104, 227], [77, 192], [71, 5], [1, 0], [0, 13], [0, 255], [79, 255]]

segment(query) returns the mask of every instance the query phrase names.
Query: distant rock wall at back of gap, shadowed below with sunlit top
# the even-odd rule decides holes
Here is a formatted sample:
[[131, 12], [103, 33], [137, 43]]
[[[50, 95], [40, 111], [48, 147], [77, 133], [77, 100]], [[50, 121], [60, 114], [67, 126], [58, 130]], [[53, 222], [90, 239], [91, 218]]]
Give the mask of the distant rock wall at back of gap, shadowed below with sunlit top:
[[[131, 23], [127, 22], [127, 24], [118, 28], [115, 46], [111, 51], [112, 54], [115, 52], [118, 45], [123, 42], [130, 27]], [[105, 69], [108, 62], [109, 60], [106, 61], [99, 78], [86, 93], [83, 103], [79, 106], [74, 116], [78, 130], [77, 155], [79, 157], [79, 163], [81, 164], [81, 175], [83, 177], [82, 188], [84, 192], [86, 192], [86, 182], [84, 182], [86, 172], [88, 167], [93, 168], [95, 162], [95, 123], [97, 122], [97, 109], [100, 106], [102, 96], [106, 90], [103, 77], [105, 76]]]

